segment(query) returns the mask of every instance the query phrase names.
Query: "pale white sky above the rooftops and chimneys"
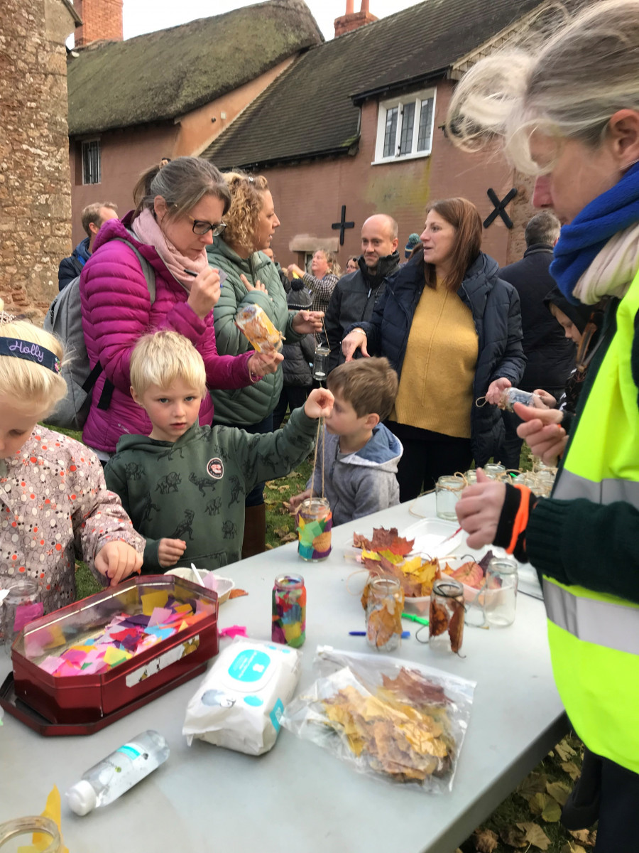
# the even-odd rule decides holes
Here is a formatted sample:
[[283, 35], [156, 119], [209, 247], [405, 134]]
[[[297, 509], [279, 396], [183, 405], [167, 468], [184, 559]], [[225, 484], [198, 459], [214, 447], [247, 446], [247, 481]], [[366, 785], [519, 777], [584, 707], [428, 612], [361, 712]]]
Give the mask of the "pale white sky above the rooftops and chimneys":
[[[124, 38], [186, 24], [196, 18], [222, 15], [232, 9], [250, 6], [254, 2], [255, 0], [124, 0]], [[333, 38], [333, 21], [346, 11], [346, 0], [306, 0], [306, 3], [324, 33], [324, 38]], [[372, 15], [384, 18], [414, 6], [415, 3], [416, 0], [370, 0], [370, 9]], [[359, 12], [360, 0], [354, 0], [354, 9]]]

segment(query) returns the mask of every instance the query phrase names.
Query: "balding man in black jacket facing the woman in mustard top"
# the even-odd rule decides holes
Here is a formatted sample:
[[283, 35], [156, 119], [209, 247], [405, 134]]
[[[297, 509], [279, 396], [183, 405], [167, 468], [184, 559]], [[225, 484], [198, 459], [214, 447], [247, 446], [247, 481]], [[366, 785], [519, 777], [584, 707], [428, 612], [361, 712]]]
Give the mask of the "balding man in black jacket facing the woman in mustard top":
[[337, 281], [326, 309], [324, 324], [331, 349], [329, 371], [344, 361], [342, 339], [346, 329], [353, 323], [371, 319], [383, 293], [384, 279], [397, 270], [400, 264], [397, 235], [397, 223], [385, 213], [369, 217], [362, 225], [360, 269]]

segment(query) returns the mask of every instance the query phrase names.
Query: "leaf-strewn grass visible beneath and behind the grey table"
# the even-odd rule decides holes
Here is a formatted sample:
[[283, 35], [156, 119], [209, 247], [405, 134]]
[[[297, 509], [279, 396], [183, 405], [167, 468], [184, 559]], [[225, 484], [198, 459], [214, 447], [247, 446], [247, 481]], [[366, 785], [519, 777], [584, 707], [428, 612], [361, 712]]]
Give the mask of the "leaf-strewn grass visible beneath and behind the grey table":
[[[78, 440], [80, 438], [77, 432], [60, 432]], [[309, 458], [288, 477], [268, 481], [264, 490], [267, 548], [278, 548], [296, 538], [295, 519], [287, 512], [283, 502], [306, 488], [312, 464], [313, 460]], [[530, 470], [532, 467], [530, 452], [524, 444], [521, 468]], [[92, 595], [101, 589], [88, 566], [79, 562], [76, 583], [78, 598]], [[515, 850], [523, 850], [523, 853], [536, 853], [537, 850], [546, 850], [547, 853], [589, 853], [594, 836], [581, 833], [578, 841], [559, 823], [559, 806], [572, 787], [573, 778], [579, 774], [582, 752], [583, 746], [576, 737], [569, 736], [562, 740], [455, 853], [511, 853]], [[531, 843], [531, 838], [539, 846]], [[448, 851], [443, 850], [441, 853]]]

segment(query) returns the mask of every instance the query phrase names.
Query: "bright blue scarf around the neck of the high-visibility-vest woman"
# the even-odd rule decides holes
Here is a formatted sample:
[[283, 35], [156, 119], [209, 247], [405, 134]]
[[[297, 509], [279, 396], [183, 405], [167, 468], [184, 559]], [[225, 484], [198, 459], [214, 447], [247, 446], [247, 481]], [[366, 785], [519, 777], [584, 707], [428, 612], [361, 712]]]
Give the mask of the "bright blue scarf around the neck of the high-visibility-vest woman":
[[579, 305], [573, 290], [599, 252], [615, 234], [639, 221], [639, 163], [611, 189], [584, 207], [561, 229], [550, 275], [568, 302]]

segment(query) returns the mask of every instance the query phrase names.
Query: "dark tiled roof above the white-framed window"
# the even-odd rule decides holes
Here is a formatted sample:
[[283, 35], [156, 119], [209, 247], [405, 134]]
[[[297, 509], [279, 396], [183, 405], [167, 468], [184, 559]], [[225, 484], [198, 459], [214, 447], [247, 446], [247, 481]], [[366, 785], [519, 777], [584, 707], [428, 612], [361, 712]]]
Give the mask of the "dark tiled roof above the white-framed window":
[[[311, 49], [203, 157], [221, 168], [346, 154], [366, 94], [445, 74], [542, 0], [426, 0]], [[358, 95], [360, 97], [358, 97]], [[277, 116], [277, 120], [273, 120]]]

